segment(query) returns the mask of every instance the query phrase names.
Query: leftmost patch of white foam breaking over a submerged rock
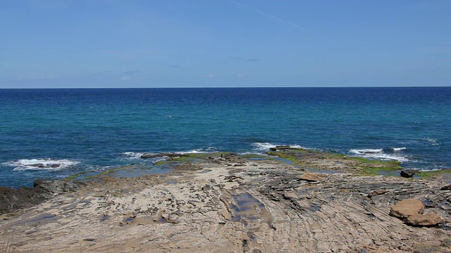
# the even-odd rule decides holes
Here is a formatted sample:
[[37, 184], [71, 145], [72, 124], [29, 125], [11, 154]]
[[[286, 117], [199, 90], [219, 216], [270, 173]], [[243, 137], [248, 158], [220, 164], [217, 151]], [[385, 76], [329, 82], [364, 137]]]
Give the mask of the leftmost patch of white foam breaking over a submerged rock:
[[17, 161], [4, 162], [7, 166], [15, 167], [15, 171], [24, 170], [50, 170], [58, 171], [72, 167], [80, 162], [75, 160], [51, 160], [47, 159], [21, 159]]

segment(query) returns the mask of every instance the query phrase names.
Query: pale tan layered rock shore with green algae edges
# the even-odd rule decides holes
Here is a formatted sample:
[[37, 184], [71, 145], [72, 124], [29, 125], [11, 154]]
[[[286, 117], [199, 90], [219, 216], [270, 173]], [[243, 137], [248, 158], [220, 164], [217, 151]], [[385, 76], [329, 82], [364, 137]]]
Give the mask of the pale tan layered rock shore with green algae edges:
[[0, 250], [450, 251], [447, 173], [381, 176], [399, 175], [399, 164], [288, 147], [269, 154], [277, 157], [171, 157], [166, 174], [65, 181], [33, 207], [4, 197]]

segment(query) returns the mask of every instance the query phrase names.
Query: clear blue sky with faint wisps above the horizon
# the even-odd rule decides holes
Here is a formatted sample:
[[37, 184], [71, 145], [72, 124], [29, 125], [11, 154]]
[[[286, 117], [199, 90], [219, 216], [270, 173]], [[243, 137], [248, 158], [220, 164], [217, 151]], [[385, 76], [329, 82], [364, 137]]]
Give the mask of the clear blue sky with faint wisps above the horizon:
[[0, 0], [0, 88], [451, 86], [450, 11], [450, 0]]

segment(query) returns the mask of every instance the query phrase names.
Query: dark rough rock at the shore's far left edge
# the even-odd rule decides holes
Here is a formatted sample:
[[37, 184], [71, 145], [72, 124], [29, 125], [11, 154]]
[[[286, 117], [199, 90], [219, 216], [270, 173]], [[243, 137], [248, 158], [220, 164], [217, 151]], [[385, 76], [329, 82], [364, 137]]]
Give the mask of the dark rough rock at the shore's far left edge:
[[0, 186], [0, 214], [32, 207], [59, 193], [80, 189], [84, 183], [63, 180], [36, 180], [34, 188]]

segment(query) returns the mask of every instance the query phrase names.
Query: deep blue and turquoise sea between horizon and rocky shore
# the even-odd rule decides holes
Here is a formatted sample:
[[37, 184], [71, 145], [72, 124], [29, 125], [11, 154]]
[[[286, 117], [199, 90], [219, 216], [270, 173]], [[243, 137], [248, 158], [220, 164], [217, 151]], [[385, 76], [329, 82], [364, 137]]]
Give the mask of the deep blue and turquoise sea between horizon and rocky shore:
[[451, 87], [0, 89], [0, 108], [0, 186], [271, 145], [451, 168]]

